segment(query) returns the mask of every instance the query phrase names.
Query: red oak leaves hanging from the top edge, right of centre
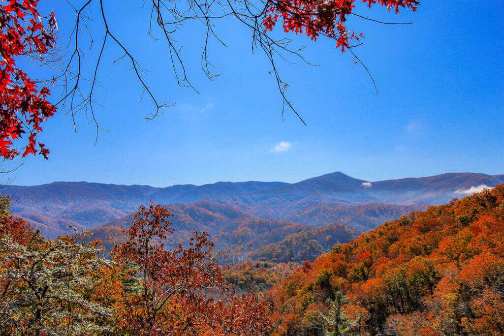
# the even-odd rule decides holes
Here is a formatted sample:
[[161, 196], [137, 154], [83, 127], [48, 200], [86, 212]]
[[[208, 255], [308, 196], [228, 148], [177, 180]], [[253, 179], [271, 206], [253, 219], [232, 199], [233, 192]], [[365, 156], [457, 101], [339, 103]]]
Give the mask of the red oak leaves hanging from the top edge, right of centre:
[[[272, 31], [279, 18], [282, 18], [285, 32], [306, 34], [312, 40], [319, 35], [335, 39], [336, 48], [345, 52], [350, 41], [358, 41], [363, 33], [355, 34], [345, 25], [352, 14], [356, 0], [269, 0], [265, 10], [263, 25], [265, 32]], [[416, 11], [417, 0], [363, 0], [370, 8], [374, 4], [382, 5], [387, 11], [394, 9], [399, 13], [401, 8]]]

